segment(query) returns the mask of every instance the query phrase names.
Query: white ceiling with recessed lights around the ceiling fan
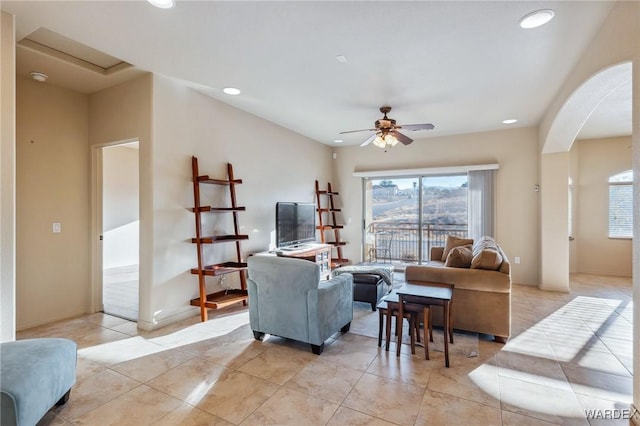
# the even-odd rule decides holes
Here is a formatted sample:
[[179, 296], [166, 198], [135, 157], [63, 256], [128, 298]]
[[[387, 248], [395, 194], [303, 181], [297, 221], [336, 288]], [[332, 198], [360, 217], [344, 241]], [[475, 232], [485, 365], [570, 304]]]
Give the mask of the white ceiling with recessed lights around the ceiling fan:
[[[613, 7], [610, 1], [2, 1], [20, 41], [39, 28], [137, 68], [190, 82], [208, 95], [328, 145], [358, 144], [393, 107], [399, 124], [433, 123], [414, 139], [541, 120]], [[525, 14], [552, 8], [546, 26]], [[336, 59], [344, 55], [346, 63]], [[18, 48], [18, 73], [91, 93], [132, 75], [81, 71]], [[222, 93], [237, 87], [239, 96]], [[630, 83], [592, 114], [579, 138], [631, 134]]]

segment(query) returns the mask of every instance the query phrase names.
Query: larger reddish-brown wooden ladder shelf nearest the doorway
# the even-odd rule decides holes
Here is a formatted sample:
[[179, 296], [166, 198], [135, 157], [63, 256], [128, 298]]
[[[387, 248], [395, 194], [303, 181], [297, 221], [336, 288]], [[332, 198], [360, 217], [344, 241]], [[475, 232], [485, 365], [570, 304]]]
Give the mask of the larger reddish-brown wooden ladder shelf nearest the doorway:
[[[200, 307], [200, 319], [207, 321], [208, 309], [220, 309], [236, 303], [242, 302], [247, 305], [247, 264], [242, 259], [242, 251], [240, 242], [248, 240], [248, 235], [241, 235], [238, 225], [238, 213], [245, 211], [245, 207], [239, 207], [236, 203], [235, 185], [242, 183], [241, 179], [235, 179], [233, 176], [233, 166], [227, 164], [227, 179], [212, 179], [208, 175], [200, 175], [198, 171], [198, 159], [191, 157], [191, 169], [193, 173], [193, 200], [194, 207], [191, 209], [196, 220], [196, 236], [191, 242], [196, 245], [198, 253], [198, 267], [191, 269], [191, 273], [198, 276], [198, 285], [200, 297], [191, 300], [191, 305]], [[229, 188], [231, 194], [230, 207], [213, 207], [201, 205], [200, 185], [222, 185]], [[233, 234], [229, 235], [203, 235], [201, 215], [215, 213], [231, 213], [233, 215]], [[207, 265], [205, 260], [205, 246], [209, 244], [219, 244], [234, 242], [236, 245], [236, 259], [229, 262]], [[240, 288], [232, 290], [222, 290], [215, 293], [207, 294], [207, 276], [221, 276], [230, 273], [238, 273], [240, 276]]]

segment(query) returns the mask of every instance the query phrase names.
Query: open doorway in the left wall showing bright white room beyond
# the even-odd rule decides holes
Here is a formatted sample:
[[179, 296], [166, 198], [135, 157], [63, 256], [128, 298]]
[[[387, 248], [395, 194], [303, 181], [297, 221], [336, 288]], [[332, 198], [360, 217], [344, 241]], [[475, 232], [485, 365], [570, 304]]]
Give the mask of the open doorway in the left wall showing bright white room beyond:
[[138, 320], [138, 141], [100, 148], [102, 158], [102, 306], [106, 314]]

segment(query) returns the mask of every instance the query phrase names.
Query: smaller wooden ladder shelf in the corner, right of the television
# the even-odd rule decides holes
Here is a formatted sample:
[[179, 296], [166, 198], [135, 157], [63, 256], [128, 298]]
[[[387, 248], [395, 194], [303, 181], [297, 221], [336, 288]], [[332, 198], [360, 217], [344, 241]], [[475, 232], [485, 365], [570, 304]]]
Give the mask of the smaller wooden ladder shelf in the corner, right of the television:
[[[340, 195], [331, 189], [331, 183], [327, 183], [327, 189], [321, 190], [320, 184], [316, 180], [316, 211], [318, 212], [317, 229], [320, 230], [320, 241], [323, 244], [331, 244], [336, 252], [336, 256], [331, 256], [331, 268], [348, 265], [349, 259], [342, 255], [342, 247], [347, 243], [340, 239], [340, 230], [344, 225], [338, 222], [337, 213], [341, 210], [335, 207], [333, 197]], [[325, 232], [333, 233], [332, 241], [327, 240]]]

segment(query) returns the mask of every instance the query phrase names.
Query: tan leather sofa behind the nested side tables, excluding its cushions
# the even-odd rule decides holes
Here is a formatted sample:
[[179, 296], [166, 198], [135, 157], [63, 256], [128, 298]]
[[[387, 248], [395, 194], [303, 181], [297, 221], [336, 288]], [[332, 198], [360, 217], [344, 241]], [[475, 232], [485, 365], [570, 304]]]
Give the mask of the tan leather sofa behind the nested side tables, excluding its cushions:
[[[499, 250], [503, 258], [499, 270], [485, 270], [445, 266], [441, 260], [444, 247], [432, 247], [429, 263], [407, 266], [406, 281], [453, 284], [453, 327], [490, 334], [504, 343], [511, 335], [511, 267], [507, 256]], [[433, 307], [435, 325], [442, 325], [439, 309]]]

